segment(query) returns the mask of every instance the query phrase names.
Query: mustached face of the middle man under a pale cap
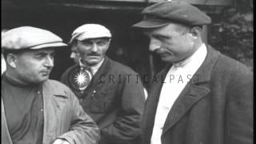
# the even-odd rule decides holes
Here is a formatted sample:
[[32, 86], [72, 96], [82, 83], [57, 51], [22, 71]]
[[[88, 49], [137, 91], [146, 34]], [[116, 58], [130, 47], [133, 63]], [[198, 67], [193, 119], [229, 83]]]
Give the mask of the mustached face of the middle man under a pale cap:
[[92, 38], [77, 42], [82, 62], [87, 66], [94, 66], [101, 62], [109, 46], [110, 38]]

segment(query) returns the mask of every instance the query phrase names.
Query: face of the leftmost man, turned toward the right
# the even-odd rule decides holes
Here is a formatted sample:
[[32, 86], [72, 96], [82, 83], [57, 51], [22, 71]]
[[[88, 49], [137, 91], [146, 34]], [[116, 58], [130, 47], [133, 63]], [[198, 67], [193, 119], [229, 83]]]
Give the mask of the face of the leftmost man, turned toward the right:
[[54, 50], [28, 50], [15, 54], [15, 73], [24, 83], [45, 82], [54, 67]]

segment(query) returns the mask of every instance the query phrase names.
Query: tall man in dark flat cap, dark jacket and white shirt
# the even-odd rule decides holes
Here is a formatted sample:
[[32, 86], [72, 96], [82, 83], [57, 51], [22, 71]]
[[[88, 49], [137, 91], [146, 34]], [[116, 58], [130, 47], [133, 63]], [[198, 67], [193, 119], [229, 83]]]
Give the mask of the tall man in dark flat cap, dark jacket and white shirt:
[[168, 63], [153, 83], [142, 118], [143, 144], [253, 142], [253, 75], [202, 42], [211, 19], [186, 2], [159, 2], [134, 24]]

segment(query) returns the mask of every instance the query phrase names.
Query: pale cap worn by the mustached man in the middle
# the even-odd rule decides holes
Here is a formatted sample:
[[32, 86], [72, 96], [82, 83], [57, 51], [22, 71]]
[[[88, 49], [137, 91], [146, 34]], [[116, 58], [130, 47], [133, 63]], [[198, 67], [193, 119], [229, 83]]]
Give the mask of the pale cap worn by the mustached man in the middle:
[[74, 30], [71, 36], [70, 43], [73, 42], [74, 39], [82, 41], [90, 38], [111, 38], [111, 33], [105, 26], [92, 23], [79, 26]]

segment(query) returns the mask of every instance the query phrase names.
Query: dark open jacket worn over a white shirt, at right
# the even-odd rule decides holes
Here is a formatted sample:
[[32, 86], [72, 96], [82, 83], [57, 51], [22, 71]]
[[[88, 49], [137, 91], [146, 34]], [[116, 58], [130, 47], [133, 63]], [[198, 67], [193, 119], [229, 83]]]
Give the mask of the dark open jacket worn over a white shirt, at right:
[[[150, 144], [161, 89], [162, 82], [154, 83], [146, 101], [143, 144]], [[162, 144], [252, 144], [252, 72], [207, 46], [205, 61], [166, 118], [161, 140]]]

